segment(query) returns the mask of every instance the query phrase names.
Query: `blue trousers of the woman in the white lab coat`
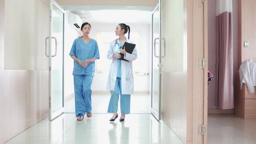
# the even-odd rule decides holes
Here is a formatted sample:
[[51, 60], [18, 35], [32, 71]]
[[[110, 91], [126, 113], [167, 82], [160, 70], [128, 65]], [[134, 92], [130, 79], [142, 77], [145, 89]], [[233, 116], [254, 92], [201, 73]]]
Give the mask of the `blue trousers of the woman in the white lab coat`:
[[119, 92], [120, 92], [121, 113], [130, 114], [131, 94], [122, 94], [121, 88], [122, 88], [121, 78], [117, 77], [115, 81], [115, 90], [110, 91], [111, 98], [109, 100], [109, 108], [107, 112], [109, 113], [117, 112]]

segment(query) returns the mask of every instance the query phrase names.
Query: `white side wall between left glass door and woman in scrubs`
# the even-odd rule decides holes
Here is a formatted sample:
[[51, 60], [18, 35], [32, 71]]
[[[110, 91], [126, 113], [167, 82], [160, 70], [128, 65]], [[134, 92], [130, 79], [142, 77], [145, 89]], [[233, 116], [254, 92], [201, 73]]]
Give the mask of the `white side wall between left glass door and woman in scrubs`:
[[74, 28], [69, 25], [69, 11], [65, 11], [65, 37], [64, 37], [64, 95], [65, 98], [74, 94], [73, 66], [74, 60], [69, 56], [73, 41], [80, 36]]

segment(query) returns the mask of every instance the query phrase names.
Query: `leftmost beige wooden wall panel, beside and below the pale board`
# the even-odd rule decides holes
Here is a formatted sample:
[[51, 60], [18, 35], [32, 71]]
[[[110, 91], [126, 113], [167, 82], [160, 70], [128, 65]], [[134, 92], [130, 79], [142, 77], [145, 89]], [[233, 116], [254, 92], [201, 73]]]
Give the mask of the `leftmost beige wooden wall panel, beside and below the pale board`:
[[4, 4], [5, 1], [0, 0], [0, 131], [4, 130], [0, 139], [5, 142], [25, 130], [26, 72], [4, 70]]

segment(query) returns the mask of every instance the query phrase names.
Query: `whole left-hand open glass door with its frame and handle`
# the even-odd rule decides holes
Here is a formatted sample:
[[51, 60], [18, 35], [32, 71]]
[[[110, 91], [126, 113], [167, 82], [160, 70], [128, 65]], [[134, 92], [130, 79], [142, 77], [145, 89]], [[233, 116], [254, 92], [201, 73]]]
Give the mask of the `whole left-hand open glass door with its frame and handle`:
[[48, 42], [46, 56], [49, 58], [49, 120], [53, 120], [64, 112], [64, 13], [55, 1], [50, 0], [50, 32], [49, 37], [46, 38], [46, 45]]

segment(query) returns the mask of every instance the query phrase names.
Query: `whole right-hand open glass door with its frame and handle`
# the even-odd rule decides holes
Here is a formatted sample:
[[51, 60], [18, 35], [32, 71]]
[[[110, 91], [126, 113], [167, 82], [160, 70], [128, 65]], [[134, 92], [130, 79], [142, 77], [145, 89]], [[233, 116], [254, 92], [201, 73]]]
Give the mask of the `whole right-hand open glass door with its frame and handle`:
[[152, 50], [151, 50], [151, 113], [160, 120], [160, 13], [159, 4], [152, 13]]

